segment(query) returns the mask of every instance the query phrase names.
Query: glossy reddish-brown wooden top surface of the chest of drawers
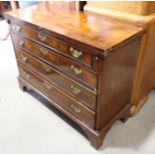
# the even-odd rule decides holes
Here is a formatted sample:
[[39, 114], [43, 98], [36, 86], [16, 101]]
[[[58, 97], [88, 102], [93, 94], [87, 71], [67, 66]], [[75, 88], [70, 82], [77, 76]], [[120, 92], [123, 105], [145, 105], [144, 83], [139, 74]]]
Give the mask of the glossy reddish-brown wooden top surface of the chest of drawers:
[[103, 15], [54, 9], [48, 5], [48, 2], [10, 11], [5, 15], [43, 27], [100, 50], [108, 50], [142, 32], [138, 27]]

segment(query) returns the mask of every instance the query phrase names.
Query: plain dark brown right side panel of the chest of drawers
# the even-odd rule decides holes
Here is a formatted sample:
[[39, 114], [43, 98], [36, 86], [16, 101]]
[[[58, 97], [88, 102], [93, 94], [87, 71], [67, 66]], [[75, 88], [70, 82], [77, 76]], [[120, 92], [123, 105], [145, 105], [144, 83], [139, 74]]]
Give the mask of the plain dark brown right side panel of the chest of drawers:
[[140, 41], [141, 38], [130, 40], [104, 60], [101, 101], [97, 106], [97, 129], [130, 104]]

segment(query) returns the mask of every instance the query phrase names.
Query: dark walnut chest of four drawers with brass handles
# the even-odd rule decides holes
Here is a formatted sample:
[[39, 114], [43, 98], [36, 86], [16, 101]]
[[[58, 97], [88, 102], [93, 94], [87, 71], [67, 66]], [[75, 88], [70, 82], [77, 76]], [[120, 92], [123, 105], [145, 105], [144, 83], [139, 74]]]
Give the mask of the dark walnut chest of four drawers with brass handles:
[[8, 12], [22, 89], [33, 90], [85, 132], [95, 148], [126, 120], [144, 30], [41, 3]]

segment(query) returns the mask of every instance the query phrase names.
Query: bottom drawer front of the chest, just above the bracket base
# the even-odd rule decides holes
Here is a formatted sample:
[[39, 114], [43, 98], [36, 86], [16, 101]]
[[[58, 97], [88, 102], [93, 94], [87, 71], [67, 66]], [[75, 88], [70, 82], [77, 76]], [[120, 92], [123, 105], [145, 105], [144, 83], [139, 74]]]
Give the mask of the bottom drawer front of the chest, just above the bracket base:
[[86, 123], [89, 127], [94, 128], [95, 113], [83, 106], [73, 98], [69, 97], [51, 83], [32, 73], [25, 67], [19, 65], [20, 76], [28, 81], [32, 86], [50, 98], [53, 102], [63, 107], [65, 110], [74, 115], [77, 119]]

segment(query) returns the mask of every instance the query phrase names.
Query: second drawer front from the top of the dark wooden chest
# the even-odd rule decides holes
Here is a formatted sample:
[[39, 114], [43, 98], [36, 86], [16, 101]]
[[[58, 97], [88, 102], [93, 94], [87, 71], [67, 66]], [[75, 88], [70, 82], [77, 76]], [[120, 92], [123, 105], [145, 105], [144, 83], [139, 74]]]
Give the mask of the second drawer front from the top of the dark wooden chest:
[[[27, 49], [27, 52], [33, 54], [34, 56], [44, 59], [51, 63], [54, 67], [60, 69], [64, 74], [70, 75], [75, 79], [84, 81], [88, 86], [96, 88], [97, 87], [97, 75], [90, 72], [90, 70], [81, 66], [78, 63], [64, 59], [64, 57], [54, 53], [54, 51], [49, 51], [30, 40], [25, 38], [17, 37], [12, 34], [14, 44], [20, 46], [23, 49]], [[95, 89], [94, 89], [95, 90]]]

